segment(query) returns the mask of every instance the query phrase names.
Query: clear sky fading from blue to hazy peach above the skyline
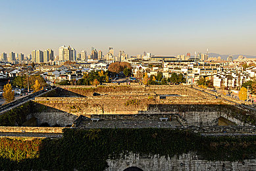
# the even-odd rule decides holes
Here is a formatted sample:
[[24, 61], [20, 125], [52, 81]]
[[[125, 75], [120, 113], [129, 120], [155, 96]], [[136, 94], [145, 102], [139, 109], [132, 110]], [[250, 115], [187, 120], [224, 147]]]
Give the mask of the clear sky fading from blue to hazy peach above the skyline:
[[155, 55], [256, 55], [255, 0], [1, 0], [0, 53], [61, 45]]

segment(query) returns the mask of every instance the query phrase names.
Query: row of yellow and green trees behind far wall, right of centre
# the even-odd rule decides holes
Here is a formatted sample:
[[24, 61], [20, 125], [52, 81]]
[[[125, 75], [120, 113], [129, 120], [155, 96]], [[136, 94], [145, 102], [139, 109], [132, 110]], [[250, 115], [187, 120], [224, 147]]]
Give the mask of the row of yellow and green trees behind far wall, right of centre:
[[143, 76], [143, 84], [145, 85], [166, 85], [168, 82], [172, 84], [186, 83], [186, 78], [182, 74], [172, 73], [170, 78], [166, 79], [162, 72], [157, 72], [157, 76], [151, 75], [150, 77], [147, 76], [146, 72]]

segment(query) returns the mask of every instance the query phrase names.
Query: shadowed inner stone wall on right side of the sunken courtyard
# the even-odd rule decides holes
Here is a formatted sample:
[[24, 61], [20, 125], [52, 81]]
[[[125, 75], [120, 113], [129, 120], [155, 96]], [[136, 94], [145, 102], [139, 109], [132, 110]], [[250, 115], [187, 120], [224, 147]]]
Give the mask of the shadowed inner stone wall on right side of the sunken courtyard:
[[[140, 114], [179, 114], [186, 119], [188, 126], [256, 125], [256, 112], [237, 105], [148, 105]], [[225, 118], [219, 122], [219, 118]], [[224, 123], [225, 122], [225, 123]]]

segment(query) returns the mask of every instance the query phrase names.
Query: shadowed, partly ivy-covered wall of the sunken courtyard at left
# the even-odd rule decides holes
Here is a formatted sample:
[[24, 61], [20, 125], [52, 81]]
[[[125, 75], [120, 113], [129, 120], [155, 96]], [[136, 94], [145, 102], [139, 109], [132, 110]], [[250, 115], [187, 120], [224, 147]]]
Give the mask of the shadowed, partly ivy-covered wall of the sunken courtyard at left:
[[0, 126], [71, 126], [78, 116], [28, 101], [0, 116]]

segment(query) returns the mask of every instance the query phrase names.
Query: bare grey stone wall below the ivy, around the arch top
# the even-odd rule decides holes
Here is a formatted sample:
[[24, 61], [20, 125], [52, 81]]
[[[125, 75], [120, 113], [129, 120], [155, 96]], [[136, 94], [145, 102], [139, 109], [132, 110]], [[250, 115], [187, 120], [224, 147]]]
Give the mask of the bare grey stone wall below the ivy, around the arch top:
[[120, 159], [107, 160], [109, 168], [105, 171], [123, 171], [131, 166], [136, 166], [147, 171], [162, 170], [255, 170], [256, 160], [243, 161], [209, 161], [200, 159], [194, 153], [183, 154], [174, 157], [145, 156], [130, 153]]

